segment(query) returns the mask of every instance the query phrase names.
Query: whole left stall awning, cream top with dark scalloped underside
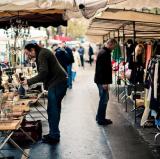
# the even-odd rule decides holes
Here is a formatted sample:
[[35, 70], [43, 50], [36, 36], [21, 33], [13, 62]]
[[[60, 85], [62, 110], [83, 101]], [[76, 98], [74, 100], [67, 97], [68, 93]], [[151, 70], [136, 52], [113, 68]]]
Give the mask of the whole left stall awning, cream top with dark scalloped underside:
[[[110, 0], [119, 1], [123, 0]], [[68, 19], [82, 15], [90, 18], [107, 4], [108, 0], [1, 0], [0, 28], [9, 27], [16, 17], [34, 27], [67, 25]]]

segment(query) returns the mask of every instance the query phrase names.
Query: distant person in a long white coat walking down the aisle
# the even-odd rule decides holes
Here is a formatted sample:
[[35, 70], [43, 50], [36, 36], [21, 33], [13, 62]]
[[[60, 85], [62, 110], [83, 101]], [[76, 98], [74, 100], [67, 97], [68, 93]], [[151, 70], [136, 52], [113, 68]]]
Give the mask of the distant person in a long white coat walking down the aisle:
[[75, 81], [78, 67], [80, 66], [80, 56], [76, 50], [76, 48], [72, 48], [74, 63], [72, 65], [72, 80]]

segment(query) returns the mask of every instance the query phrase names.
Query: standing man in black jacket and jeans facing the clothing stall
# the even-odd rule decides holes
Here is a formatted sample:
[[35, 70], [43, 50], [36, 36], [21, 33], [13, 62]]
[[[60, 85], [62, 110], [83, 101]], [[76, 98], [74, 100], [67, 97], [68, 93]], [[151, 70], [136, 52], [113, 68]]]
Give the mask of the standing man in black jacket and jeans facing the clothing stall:
[[96, 115], [96, 121], [99, 125], [112, 124], [112, 121], [105, 117], [109, 100], [109, 84], [112, 83], [111, 52], [116, 44], [117, 42], [115, 39], [109, 39], [99, 51], [96, 60], [94, 82], [97, 84], [100, 97]]

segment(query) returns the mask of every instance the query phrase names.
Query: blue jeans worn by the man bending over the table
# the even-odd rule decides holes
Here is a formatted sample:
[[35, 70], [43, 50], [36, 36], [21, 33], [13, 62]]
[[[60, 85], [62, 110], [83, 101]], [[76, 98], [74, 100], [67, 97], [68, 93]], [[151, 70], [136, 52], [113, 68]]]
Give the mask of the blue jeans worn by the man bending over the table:
[[61, 82], [48, 90], [48, 123], [49, 135], [52, 138], [59, 139], [59, 122], [61, 115], [61, 102], [66, 94], [67, 82]]

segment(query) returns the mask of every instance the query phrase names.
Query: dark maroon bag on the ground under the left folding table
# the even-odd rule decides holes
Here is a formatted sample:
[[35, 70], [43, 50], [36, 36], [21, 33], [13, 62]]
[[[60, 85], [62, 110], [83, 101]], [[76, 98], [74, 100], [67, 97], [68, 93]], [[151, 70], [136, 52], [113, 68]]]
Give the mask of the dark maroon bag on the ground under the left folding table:
[[[42, 123], [41, 120], [37, 121], [27, 121], [23, 120], [21, 128], [31, 136], [35, 141], [38, 141], [42, 138]], [[11, 137], [15, 142], [24, 143], [30, 142], [31, 140], [21, 131], [17, 130]]]

